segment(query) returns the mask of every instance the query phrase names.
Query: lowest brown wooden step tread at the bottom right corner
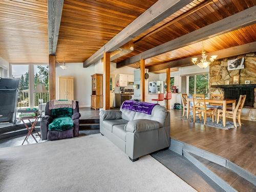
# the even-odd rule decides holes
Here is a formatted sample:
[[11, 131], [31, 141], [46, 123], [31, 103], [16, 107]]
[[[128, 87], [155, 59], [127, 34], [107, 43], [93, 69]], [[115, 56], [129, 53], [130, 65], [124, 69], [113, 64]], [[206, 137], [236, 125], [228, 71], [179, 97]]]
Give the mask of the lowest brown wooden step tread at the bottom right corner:
[[[197, 156], [193, 153], [187, 152], [190, 156], [195, 158], [199, 163], [206, 167], [210, 172], [214, 173], [217, 177], [214, 177], [215, 180], [222, 180], [226, 185], [224, 188], [227, 191], [256, 191], [256, 186], [239, 176], [237, 173], [232, 172], [229, 168], [221, 166], [217, 163], [211, 162], [207, 159], [204, 159], [200, 156]], [[204, 170], [202, 170], [204, 172]], [[208, 172], [208, 173], [210, 173]], [[209, 174], [210, 175], [210, 174]], [[222, 181], [219, 181], [219, 184], [223, 184]], [[218, 181], [217, 181], [218, 182]], [[230, 186], [228, 189], [227, 186]], [[223, 186], [221, 186], [223, 187]]]

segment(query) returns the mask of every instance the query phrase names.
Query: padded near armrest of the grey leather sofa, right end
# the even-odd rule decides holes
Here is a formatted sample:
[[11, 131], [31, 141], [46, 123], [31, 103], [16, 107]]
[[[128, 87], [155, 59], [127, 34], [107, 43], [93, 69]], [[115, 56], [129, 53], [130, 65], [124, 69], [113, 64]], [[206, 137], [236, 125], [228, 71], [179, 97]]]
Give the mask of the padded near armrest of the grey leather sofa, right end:
[[160, 123], [149, 119], [136, 119], [129, 121], [124, 127], [126, 132], [139, 133], [159, 129]]

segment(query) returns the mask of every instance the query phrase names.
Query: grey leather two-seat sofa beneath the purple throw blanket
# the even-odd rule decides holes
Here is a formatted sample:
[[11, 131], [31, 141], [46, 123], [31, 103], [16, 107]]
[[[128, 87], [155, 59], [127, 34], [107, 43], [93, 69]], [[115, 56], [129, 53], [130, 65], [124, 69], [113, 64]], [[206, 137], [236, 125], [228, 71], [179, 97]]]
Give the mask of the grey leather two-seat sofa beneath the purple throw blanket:
[[169, 147], [170, 116], [161, 105], [151, 115], [130, 110], [100, 112], [100, 133], [109, 138], [132, 161]]

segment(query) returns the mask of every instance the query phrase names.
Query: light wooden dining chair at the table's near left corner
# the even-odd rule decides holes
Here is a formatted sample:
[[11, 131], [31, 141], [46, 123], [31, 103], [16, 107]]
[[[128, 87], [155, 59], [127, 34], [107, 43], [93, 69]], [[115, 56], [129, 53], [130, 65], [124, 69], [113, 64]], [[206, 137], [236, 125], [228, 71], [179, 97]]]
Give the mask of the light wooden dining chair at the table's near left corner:
[[193, 95], [194, 122], [196, 121], [197, 114], [199, 115], [200, 120], [202, 119], [202, 113], [203, 113], [203, 117], [204, 117], [204, 124], [206, 123], [207, 116], [210, 116], [212, 122], [214, 122], [214, 109], [206, 108], [205, 96], [203, 94], [194, 94]]

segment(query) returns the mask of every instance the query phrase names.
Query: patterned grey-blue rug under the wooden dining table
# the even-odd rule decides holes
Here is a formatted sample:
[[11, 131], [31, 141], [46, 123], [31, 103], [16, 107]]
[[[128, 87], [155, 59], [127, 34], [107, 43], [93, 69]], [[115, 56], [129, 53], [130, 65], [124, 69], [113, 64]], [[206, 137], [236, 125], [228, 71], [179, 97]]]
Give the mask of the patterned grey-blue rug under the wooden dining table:
[[[191, 116], [189, 116], [188, 119], [187, 119], [185, 116], [184, 116], [184, 117], [181, 116], [180, 118], [181, 118], [182, 120], [194, 122], [194, 119], [193, 119], [193, 117], [191, 117]], [[200, 119], [197, 117], [197, 118], [196, 118], [196, 123], [204, 124], [203, 118], [202, 118], [202, 120], [200, 120]], [[218, 129], [222, 129], [222, 130], [229, 130], [229, 129], [234, 128], [234, 123], [231, 122], [231, 121], [227, 121], [227, 120], [226, 120], [226, 126], [224, 127], [222, 120], [220, 120], [219, 123], [217, 123], [216, 121], [215, 121], [215, 122], [212, 122], [211, 118], [209, 118], [209, 117], [207, 117], [205, 125], [211, 126], [211, 127], [215, 127], [215, 128], [218, 128]], [[240, 126], [239, 123], [237, 123], [237, 126]]]

